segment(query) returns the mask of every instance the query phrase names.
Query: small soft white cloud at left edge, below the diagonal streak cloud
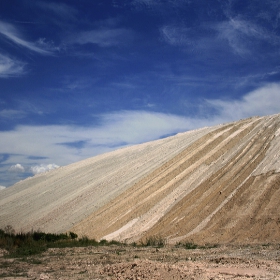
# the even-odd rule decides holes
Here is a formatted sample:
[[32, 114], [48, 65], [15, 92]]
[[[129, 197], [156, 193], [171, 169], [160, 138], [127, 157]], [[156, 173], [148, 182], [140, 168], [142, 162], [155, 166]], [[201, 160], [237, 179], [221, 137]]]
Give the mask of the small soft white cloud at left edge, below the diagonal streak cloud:
[[24, 74], [25, 64], [0, 54], [0, 77], [6, 78]]

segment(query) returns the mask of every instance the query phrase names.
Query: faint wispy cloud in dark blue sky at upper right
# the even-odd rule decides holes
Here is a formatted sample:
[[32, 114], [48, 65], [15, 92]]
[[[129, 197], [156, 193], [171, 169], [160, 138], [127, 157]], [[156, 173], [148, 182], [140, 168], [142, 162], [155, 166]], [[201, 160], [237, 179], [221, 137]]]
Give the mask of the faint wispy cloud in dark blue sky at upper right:
[[280, 45], [279, 36], [253, 22], [239, 18], [218, 23], [201, 23], [195, 27], [166, 25], [160, 28], [160, 32], [162, 39], [168, 44], [184, 47], [192, 52], [230, 50], [236, 55], [246, 56], [260, 50], [262, 44], [272, 48]]

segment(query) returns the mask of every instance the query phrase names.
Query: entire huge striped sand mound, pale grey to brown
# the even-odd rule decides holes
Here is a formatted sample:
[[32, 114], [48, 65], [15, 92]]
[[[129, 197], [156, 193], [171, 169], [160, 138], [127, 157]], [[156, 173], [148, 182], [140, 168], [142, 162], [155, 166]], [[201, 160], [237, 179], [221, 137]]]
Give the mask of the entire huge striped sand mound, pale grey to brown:
[[280, 241], [280, 115], [181, 133], [2, 190], [0, 228], [97, 239]]

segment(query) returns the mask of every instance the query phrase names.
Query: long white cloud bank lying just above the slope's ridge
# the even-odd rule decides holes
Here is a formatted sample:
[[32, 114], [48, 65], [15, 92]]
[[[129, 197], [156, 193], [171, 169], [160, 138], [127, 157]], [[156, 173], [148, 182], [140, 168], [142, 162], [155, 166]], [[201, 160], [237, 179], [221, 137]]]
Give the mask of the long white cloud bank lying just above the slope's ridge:
[[[5, 162], [13, 165], [9, 171], [25, 170], [37, 174], [163, 135], [279, 113], [280, 83], [263, 86], [239, 100], [206, 100], [204, 107], [204, 111], [214, 109], [216, 114], [208, 114], [205, 118], [203, 115], [186, 117], [148, 111], [119, 111], [99, 116], [99, 125], [92, 127], [18, 126], [13, 131], [0, 132], [0, 153], [10, 155]], [[5, 170], [0, 168], [0, 171]]]

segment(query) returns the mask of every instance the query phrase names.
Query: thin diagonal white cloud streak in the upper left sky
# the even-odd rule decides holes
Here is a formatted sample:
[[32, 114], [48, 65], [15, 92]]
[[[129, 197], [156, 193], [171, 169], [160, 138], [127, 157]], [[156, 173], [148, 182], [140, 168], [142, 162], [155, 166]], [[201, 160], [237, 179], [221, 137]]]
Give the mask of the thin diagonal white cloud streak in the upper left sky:
[[[42, 47], [42, 40], [39, 40], [37, 43], [29, 42], [25, 40], [20, 34], [17, 28], [12, 24], [0, 21], [0, 34], [12, 41], [14, 44], [26, 48], [30, 51], [39, 53], [41, 55], [52, 55], [53, 52]], [[40, 46], [41, 45], [41, 46]], [[46, 43], [44, 44], [46, 46]]]

